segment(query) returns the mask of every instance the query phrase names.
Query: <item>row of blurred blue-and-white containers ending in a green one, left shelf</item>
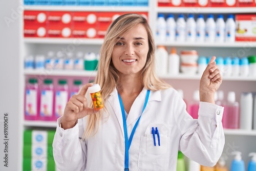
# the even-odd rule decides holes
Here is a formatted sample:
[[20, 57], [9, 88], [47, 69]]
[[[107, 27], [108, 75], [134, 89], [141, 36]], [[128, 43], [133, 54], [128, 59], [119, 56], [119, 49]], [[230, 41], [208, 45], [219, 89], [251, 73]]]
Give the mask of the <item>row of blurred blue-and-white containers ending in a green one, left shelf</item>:
[[49, 51], [45, 55], [29, 55], [25, 57], [24, 68], [26, 70], [97, 70], [99, 54], [88, 52], [83, 54], [72, 52], [67, 54], [58, 51], [55, 55], [53, 51]]

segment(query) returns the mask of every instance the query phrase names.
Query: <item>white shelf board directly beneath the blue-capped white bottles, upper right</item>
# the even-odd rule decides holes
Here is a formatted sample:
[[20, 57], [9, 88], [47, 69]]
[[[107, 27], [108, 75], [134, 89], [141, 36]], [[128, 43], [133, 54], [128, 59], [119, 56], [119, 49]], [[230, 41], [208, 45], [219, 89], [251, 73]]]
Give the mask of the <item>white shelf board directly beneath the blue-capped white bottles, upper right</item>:
[[[255, 9], [256, 10], [256, 9]], [[240, 41], [240, 42], [222, 42], [222, 43], [208, 43], [208, 42], [158, 42], [156, 45], [173, 46], [173, 47], [216, 47], [216, 48], [255, 48], [256, 42]]]

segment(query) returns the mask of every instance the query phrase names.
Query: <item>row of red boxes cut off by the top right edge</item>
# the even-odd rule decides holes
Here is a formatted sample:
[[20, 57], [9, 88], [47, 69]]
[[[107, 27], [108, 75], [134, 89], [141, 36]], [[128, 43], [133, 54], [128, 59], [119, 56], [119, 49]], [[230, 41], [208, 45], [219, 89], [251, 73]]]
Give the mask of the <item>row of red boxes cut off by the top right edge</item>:
[[158, 0], [159, 7], [256, 7], [250, 0]]

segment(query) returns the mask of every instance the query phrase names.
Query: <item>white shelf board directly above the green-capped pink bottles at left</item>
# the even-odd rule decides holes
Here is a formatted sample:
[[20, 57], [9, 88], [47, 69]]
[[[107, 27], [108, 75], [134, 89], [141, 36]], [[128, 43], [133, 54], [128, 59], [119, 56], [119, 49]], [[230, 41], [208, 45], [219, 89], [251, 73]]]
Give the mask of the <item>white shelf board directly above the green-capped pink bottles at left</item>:
[[78, 70], [53, 70], [53, 69], [42, 69], [42, 70], [24, 70], [25, 75], [50, 75], [50, 76], [87, 76], [95, 77], [97, 71], [78, 71]]

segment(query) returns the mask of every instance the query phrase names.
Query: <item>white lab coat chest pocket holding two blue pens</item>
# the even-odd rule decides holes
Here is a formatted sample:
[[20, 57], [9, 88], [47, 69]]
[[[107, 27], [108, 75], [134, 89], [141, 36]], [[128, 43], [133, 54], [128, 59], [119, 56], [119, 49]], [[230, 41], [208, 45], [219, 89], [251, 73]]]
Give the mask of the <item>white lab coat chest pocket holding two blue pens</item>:
[[160, 146], [156, 135], [156, 146], [152, 134], [146, 134], [141, 137], [140, 150], [138, 158], [139, 170], [167, 170], [170, 161], [170, 152], [168, 149], [170, 138], [167, 135], [160, 134]]

